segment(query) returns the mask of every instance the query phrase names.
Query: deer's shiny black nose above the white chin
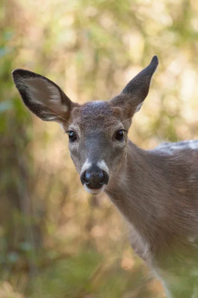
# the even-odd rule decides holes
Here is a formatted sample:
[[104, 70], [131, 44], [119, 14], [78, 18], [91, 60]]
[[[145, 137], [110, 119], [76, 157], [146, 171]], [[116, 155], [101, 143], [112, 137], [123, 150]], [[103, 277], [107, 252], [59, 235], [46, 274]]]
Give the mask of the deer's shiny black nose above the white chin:
[[99, 189], [102, 185], [108, 183], [108, 174], [100, 169], [98, 166], [93, 165], [81, 175], [81, 182], [91, 189]]

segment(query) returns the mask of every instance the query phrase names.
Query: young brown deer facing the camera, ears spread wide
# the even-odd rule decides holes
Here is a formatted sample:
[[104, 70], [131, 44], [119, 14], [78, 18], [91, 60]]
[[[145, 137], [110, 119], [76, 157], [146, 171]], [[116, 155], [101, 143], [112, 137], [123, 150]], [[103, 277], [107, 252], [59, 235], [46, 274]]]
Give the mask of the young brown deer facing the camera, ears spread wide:
[[[157, 56], [117, 96], [79, 104], [50, 79], [12, 72], [24, 104], [55, 121], [87, 192], [104, 192], [129, 227], [135, 253], [162, 282], [168, 298], [198, 297], [198, 140], [141, 149], [128, 138], [148, 95]], [[197, 294], [196, 294], [197, 291]]]

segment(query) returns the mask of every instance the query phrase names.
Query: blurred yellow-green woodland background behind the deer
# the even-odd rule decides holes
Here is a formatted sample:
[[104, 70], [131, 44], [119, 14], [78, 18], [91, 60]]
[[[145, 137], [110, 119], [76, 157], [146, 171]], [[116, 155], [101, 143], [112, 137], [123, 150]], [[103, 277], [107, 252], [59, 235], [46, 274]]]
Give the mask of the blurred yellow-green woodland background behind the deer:
[[67, 136], [11, 79], [24, 68], [73, 101], [106, 100], [153, 55], [130, 138], [198, 139], [197, 0], [0, 0], [0, 298], [164, 297], [112, 204], [82, 190]]

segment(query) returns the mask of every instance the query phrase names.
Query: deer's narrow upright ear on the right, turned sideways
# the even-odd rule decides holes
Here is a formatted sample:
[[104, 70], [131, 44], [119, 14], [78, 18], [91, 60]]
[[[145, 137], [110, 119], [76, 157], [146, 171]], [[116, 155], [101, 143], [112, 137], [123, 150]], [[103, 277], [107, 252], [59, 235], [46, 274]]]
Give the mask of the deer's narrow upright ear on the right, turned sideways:
[[110, 103], [113, 106], [122, 108], [128, 118], [132, 117], [140, 110], [143, 101], [148, 95], [151, 77], [154, 74], [157, 65], [158, 58], [157, 56], [154, 56], [148, 67], [137, 74], [118, 96], [110, 100]]

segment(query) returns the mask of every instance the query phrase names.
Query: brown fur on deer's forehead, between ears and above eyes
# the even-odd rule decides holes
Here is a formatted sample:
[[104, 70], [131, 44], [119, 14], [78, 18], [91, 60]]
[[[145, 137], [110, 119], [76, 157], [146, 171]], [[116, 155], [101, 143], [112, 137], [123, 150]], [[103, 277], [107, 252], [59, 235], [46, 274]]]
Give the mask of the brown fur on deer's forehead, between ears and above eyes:
[[118, 121], [121, 120], [121, 111], [106, 101], [93, 101], [75, 108], [72, 119], [80, 129], [89, 127], [104, 129], [118, 124]]

